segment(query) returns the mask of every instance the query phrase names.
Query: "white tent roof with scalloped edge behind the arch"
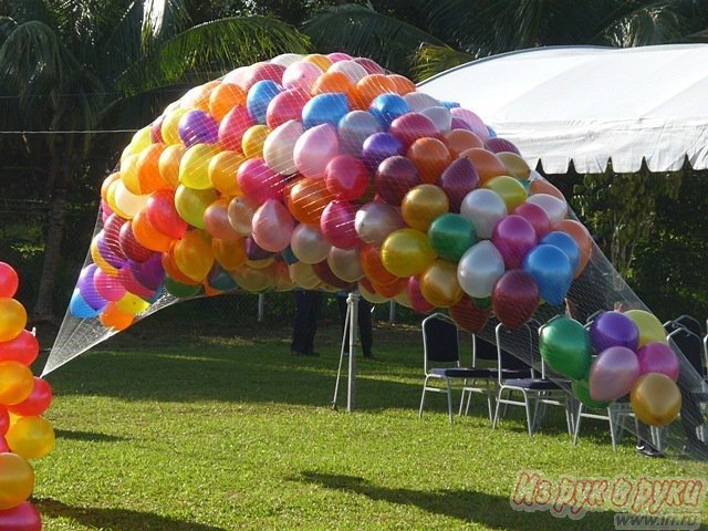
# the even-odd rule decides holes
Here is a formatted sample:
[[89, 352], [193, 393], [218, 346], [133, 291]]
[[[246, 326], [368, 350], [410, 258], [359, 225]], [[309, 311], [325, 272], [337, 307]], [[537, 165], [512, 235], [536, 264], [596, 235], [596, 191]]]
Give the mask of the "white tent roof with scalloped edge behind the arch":
[[708, 167], [708, 44], [542, 48], [444, 72], [421, 92], [475, 111], [533, 165], [563, 174]]

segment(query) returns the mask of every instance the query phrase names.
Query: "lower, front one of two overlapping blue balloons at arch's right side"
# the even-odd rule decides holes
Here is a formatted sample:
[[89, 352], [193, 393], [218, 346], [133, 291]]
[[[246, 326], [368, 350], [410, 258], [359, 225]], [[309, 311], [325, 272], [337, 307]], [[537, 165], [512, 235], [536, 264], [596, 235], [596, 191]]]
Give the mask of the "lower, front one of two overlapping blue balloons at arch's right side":
[[553, 306], [563, 304], [575, 271], [568, 254], [555, 246], [541, 243], [527, 254], [523, 270], [539, 284], [541, 299]]

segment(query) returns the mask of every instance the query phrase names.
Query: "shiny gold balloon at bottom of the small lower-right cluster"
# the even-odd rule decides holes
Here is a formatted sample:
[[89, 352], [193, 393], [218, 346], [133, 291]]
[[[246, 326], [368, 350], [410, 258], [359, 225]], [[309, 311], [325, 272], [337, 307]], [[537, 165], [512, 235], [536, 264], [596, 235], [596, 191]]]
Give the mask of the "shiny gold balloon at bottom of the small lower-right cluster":
[[663, 373], [639, 376], [632, 386], [629, 400], [637, 418], [649, 426], [666, 426], [681, 409], [681, 392]]

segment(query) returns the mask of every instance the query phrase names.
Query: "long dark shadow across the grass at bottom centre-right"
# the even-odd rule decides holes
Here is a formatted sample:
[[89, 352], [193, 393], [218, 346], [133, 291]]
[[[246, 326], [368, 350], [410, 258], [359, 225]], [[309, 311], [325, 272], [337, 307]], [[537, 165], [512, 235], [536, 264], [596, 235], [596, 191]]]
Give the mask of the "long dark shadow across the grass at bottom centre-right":
[[319, 485], [327, 489], [354, 492], [371, 500], [400, 506], [415, 506], [431, 514], [456, 518], [493, 529], [525, 531], [529, 529], [613, 529], [611, 512], [587, 512], [582, 520], [555, 518], [545, 511], [518, 512], [511, 509], [509, 498], [470, 490], [424, 491], [378, 487], [355, 476], [302, 472], [295, 480]]

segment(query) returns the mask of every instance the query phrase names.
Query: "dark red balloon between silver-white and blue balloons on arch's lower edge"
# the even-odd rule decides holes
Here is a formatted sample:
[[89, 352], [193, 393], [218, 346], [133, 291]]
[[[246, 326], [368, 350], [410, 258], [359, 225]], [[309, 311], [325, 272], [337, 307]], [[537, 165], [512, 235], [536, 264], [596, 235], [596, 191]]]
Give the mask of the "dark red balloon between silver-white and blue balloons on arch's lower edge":
[[509, 330], [517, 330], [528, 322], [539, 306], [539, 287], [521, 269], [512, 269], [502, 274], [491, 292], [491, 308]]

